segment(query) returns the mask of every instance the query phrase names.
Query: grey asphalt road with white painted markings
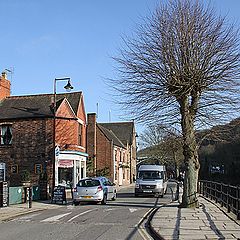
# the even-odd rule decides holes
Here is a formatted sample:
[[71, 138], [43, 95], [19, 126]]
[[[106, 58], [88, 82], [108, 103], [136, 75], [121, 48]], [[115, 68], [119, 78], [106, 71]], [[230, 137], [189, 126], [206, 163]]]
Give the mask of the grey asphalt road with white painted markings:
[[15, 218], [0, 224], [0, 240], [117, 240], [151, 239], [144, 227], [144, 217], [152, 208], [171, 200], [135, 198], [133, 188], [118, 192], [116, 201], [107, 205], [63, 205]]

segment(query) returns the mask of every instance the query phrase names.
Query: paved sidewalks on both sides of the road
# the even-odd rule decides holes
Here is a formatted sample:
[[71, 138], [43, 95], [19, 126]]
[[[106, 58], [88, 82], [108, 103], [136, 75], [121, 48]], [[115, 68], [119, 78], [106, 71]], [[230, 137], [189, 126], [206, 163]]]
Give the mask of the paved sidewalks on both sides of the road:
[[[240, 221], [236, 220], [236, 216], [227, 214], [226, 209], [201, 195], [198, 199], [199, 208], [179, 208], [179, 201], [157, 208], [150, 221], [150, 227], [156, 239], [240, 240]], [[62, 206], [62, 204], [51, 204], [50, 201], [34, 201], [32, 208], [29, 208], [27, 203], [10, 205], [0, 208], [0, 222], [11, 220], [19, 215]]]

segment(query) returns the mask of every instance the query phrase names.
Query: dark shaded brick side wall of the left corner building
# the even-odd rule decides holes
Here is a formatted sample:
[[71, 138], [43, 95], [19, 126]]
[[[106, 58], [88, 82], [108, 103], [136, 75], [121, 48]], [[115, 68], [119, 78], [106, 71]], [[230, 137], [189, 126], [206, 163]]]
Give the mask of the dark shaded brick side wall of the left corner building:
[[42, 164], [51, 175], [53, 131], [52, 120], [17, 120], [12, 123], [12, 145], [0, 146], [0, 161], [7, 164], [7, 180], [11, 185], [19, 185], [20, 175], [11, 174], [10, 166], [18, 164], [19, 173], [28, 169], [33, 184], [38, 184], [39, 176], [34, 173], [35, 164]]

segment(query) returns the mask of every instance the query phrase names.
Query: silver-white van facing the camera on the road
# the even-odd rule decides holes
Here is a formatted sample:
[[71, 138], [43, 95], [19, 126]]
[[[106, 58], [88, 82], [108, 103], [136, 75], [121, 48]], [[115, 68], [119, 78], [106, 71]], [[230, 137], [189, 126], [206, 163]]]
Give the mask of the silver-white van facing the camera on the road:
[[163, 195], [167, 191], [166, 168], [163, 165], [141, 165], [135, 184], [135, 197], [139, 195]]

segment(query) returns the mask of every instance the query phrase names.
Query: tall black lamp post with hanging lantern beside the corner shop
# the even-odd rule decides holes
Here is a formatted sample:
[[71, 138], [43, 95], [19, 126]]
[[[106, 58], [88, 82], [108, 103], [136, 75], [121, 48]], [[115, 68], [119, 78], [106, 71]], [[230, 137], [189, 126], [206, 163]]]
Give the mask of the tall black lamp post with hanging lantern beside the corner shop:
[[52, 177], [52, 198], [53, 198], [53, 191], [55, 187], [55, 178], [56, 178], [56, 111], [57, 111], [57, 81], [67, 81], [67, 85], [64, 86], [66, 90], [73, 89], [73, 86], [70, 83], [69, 77], [63, 77], [63, 78], [55, 78], [54, 79], [54, 93], [53, 93], [53, 177]]

